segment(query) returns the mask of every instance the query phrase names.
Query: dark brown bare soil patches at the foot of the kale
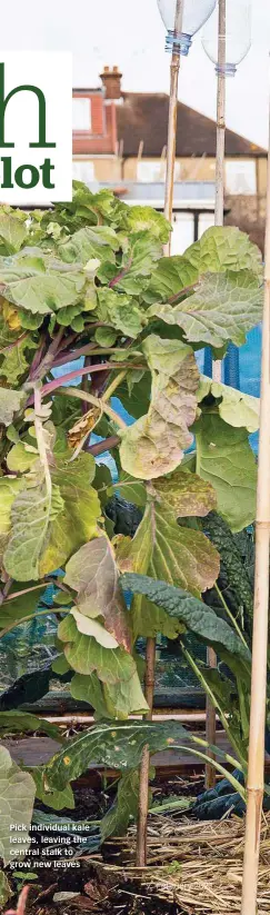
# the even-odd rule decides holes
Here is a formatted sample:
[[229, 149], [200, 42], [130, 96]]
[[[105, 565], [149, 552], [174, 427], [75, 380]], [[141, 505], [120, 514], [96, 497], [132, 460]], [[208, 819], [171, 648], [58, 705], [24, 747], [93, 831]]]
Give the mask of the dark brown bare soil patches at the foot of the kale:
[[[202, 790], [203, 779], [198, 775], [191, 775], [186, 780], [179, 776], [172, 776], [164, 784], [157, 777], [152, 784], [153, 800], [161, 803], [170, 796], [196, 796]], [[74, 788], [76, 809], [61, 810], [61, 817], [72, 817], [72, 820], [100, 819], [106, 810], [111, 806], [116, 794], [116, 785], [108, 787], [101, 785], [100, 790], [93, 790], [89, 786], [78, 786]], [[39, 809], [47, 812], [42, 804], [37, 805]], [[59, 814], [58, 814], [59, 815]], [[174, 816], [181, 816], [174, 814]], [[128, 839], [124, 842], [124, 857], [127, 861]], [[94, 861], [93, 861], [94, 858]], [[121, 878], [116, 882], [113, 869], [108, 865], [121, 865], [121, 851], [117, 842], [111, 838], [104, 843], [100, 851], [90, 856], [84, 854], [79, 858], [80, 866], [73, 871], [62, 868], [44, 871], [38, 866], [32, 868], [38, 875], [38, 882], [29, 889], [26, 915], [79, 915], [88, 912], [93, 915], [182, 915], [182, 909], [176, 904], [170, 904], [154, 895], [151, 887], [139, 882], [131, 882]], [[106, 874], [102, 864], [107, 865]], [[19, 869], [19, 865], [18, 865]], [[18, 901], [18, 886], [12, 875], [9, 876], [14, 896], [10, 901], [8, 908], [16, 907]], [[26, 879], [27, 882], [27, 879]], [[74, 893], [73, 898], [53, 899], [54, 894]]]

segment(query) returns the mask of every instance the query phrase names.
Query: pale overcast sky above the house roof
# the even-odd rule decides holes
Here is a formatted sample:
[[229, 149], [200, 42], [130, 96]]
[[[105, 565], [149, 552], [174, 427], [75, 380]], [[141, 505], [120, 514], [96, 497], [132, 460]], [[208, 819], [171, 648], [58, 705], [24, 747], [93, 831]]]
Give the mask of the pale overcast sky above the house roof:
[[[238, 0], [234, 0], [237, 3]], [[71, 50], [73, 84], [97, 86], [104, 63], [118, 63], [123, 89], [169, 88], [169, 56], [157, 0], [13, 0], [2, 3], [1, 46], [13, 50]], [[261, 146], [268, 142], [269, 0], [252, 0], [252, 48], [236, 79], [227, 80], [227, 123]], [[200, 33], [183, 60], [179, 98], [214, 118], [216, 77]]]

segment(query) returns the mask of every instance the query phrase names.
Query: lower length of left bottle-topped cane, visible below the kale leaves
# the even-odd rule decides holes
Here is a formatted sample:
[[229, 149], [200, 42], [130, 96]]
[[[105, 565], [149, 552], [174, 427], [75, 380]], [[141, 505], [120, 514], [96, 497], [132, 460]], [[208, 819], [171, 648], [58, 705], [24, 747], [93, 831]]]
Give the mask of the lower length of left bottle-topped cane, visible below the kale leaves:
[[[154, 690], [154, 663], [156, 663], [156, 638], [147, 639], [146, 654], [146, 680], [144, 693], [149, 705], [146, 716], [148, 722], [152, 719], [153, 690]], [[147, 818], [149, 804], [149, 768], [150, 753], [148, 746], [143, 747], [140, 765], [139, 805], [138, 805], [138, 828], [137, 828], [137, 867], [147, 865]]]

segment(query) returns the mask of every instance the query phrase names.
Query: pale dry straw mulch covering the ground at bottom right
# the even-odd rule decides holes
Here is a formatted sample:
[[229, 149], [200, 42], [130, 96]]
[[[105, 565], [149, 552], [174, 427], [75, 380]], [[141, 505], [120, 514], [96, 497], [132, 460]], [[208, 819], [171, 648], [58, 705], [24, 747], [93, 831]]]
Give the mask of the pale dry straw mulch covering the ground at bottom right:
[[[234, 915], [241, 912], [244, 820], [196, 823], [152, 816], [148, 829], [148, 867], [136, 868], [136, 831], [118, 839], [121, 866], [109, 865], [119, 884], [132, 883], [134, 898], [174, 903], [181, 915]], [[107, 866], [103, 866], [107, 871]], [[270, 815], [261, 832], [258, 915], [270, 913]]]

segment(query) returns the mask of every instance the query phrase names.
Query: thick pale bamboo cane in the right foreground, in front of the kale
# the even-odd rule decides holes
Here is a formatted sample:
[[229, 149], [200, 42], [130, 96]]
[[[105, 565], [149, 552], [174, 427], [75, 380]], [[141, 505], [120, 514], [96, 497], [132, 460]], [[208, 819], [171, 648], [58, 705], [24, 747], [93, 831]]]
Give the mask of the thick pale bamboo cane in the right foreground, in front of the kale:
[[256, 915], [264, 773], [270, 547], [270, 110], [250, 742], [241, 915]]

